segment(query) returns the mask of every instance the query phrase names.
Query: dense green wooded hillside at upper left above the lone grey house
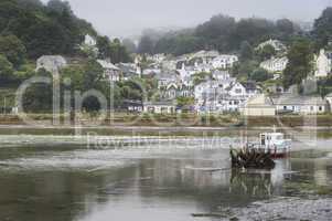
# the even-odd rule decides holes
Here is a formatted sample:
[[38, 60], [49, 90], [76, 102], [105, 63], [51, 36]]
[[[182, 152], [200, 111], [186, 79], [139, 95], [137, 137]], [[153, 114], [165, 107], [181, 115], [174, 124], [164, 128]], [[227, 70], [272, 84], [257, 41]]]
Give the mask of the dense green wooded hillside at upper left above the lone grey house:
[[[98, 59], [130, 61], [118, 39], [99, 36], [94, 27], [77, 18], [69, 3], [50, 0], [0, 1], [0, 82], [19, 83], [34, 74], [41, 55], [88, 56], [81, 50], [86, 34], [97, 40]], [[97, 59], [97, 57], [95, 57]]]

